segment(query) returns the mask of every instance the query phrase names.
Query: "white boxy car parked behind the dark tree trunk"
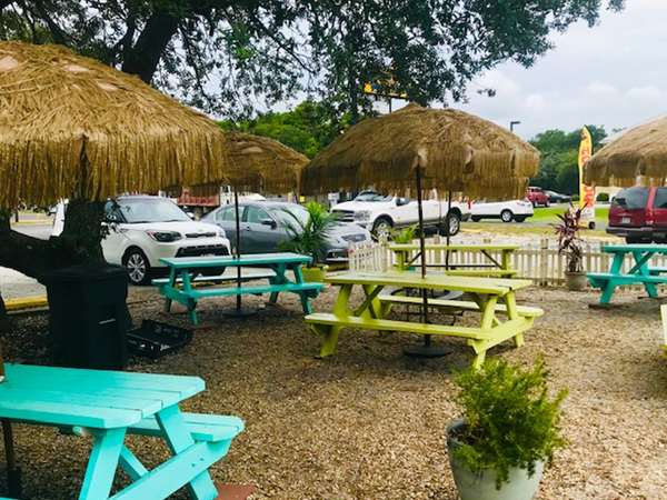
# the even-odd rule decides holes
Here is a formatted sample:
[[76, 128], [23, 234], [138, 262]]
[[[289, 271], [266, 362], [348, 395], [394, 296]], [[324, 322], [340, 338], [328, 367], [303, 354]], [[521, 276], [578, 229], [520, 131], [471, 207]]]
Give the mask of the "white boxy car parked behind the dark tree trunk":
[[[66, 211], [67, 203], [59, 203], [53, 237], [62, 232]], [[165, 271], [162, 258], [230, 253], [225, 230], [191, 220], [167, 198], [119, 197], [107, 202], [104, 212], [104, 223], [109, 224], [109, 232], [102, 240], [104, 259], [125, 266], [133, 284], [146, 284], [155, 274]]]

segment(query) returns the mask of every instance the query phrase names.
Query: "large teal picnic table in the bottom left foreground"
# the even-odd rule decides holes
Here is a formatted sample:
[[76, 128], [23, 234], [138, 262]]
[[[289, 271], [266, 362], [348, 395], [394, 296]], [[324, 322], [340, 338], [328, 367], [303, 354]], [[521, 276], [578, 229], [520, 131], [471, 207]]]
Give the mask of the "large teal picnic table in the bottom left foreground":
[[[158, 500], [185, 486], [193, 499], [219, 498], [208, 469], [227, 454], [232, 439], [243, 430], [243, 421], [182, 413], [181, 401], [205, 389], [200, 378], [11, 363], [4, 367], [0, 419], [57, 427], [92, 438], [79, 500]], [[171, 458], [147, 470], [126, 447], [127, 434], [162, 439]], [[131, 482], [111, 494], [119, 467]]]

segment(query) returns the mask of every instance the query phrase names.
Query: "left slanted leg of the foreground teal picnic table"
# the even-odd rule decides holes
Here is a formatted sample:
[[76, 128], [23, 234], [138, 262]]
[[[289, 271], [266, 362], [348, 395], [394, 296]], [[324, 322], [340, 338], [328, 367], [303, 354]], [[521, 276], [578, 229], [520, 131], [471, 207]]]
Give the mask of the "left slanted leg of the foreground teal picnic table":
[[109, 498], [125, 434], [125, 428], [109, 429], [93, 434], [92, 450], [79, 500], [107, 500]]

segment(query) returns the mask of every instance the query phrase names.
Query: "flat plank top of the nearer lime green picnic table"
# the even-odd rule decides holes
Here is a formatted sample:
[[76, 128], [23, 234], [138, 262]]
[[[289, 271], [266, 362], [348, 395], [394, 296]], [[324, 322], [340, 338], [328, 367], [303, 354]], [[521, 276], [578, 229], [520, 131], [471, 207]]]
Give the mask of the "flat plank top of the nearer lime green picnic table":
[[415, 271], [346, 271], [327, 274], [325, 281], [331, 284], [379, 284], [385, 287], [456, 290], [496, 296], [505, 296], [512, 290], [520, 290], [532, 284], [530, 280], [455, 277], [445, 273], [428, 273], [426, 278], [421, 278], [421, 273]]

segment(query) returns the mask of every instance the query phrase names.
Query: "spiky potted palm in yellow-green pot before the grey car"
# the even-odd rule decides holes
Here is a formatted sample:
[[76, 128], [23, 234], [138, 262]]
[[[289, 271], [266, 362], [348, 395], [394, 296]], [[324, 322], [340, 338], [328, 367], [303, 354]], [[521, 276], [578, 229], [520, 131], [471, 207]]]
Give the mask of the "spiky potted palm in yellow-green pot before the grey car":
[[325, 266], [327, 237], [337, 222], [337, 217], [316, 201], [306, 204], [308, 220], [303, 223], [295, 219], [296, 227], [287, 227], [290, 240], [280, 244], [281, 250], [310, 256], [310, 266], [301, 268], [303, 279], [321, 282], [327, 272]]

